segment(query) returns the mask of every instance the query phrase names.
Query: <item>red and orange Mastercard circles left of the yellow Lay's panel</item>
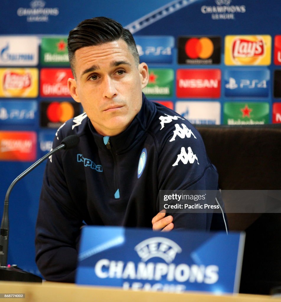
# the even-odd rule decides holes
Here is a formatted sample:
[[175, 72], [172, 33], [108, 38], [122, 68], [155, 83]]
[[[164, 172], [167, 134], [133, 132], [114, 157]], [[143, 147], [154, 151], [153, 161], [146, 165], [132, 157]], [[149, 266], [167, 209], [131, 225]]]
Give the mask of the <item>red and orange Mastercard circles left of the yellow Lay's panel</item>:
[[207, 37], [191, 38], [186, 41], [185, 52], [191, 59], [208, 59], [214, 52], [214, 44]]

